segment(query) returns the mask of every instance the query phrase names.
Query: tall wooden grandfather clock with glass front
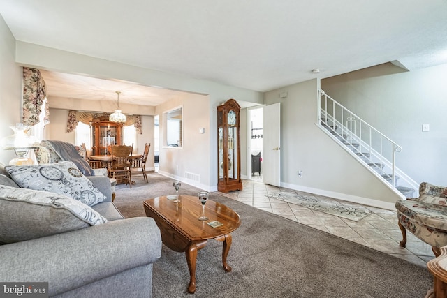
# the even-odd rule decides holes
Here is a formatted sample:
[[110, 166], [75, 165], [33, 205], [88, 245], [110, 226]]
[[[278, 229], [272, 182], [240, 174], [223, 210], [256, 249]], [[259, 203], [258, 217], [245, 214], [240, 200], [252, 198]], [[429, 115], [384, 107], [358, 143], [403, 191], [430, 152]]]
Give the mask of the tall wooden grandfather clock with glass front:
[[242, 191], [239, 111], [234, 99], [217, 107], [217, 190], [222, 193]]

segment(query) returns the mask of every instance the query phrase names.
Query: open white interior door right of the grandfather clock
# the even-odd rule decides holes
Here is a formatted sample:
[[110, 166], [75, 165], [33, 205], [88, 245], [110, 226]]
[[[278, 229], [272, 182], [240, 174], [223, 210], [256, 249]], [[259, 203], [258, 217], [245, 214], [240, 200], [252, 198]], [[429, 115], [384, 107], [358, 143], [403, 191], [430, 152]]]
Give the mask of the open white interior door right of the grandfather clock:
[[263, 183], [281, 184], [281, 103], [263, 107]]

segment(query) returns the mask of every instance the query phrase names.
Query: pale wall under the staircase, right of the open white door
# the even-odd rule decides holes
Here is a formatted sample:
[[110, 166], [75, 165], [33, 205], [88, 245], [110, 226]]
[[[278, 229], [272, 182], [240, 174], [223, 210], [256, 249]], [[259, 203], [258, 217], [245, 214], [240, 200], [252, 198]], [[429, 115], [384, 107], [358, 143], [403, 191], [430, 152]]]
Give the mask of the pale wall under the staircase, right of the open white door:
[[318, 87], [309, 80], [265, 93], [265, 105], [281, 103], [281, 185], [393, 208], [399, 197], [315, 125]]

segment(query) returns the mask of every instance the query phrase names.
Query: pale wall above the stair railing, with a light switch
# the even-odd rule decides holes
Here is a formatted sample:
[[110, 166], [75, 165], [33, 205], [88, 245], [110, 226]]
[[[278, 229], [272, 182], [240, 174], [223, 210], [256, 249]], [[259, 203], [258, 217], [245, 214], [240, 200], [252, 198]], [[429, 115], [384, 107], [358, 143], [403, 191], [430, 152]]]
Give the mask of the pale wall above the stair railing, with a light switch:
[[411, 72], [381, 64], [322, 80], [321, 88], [400, 144], [397, 167], [418, 184], [447, 185], [446, 80], [447, 64]]

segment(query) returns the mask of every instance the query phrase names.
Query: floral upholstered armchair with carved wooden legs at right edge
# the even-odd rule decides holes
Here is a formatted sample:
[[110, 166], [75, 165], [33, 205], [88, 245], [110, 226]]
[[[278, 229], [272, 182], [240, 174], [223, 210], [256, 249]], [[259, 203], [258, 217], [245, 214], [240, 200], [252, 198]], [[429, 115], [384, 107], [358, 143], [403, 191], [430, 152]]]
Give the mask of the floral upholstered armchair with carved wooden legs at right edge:
[[447, 187], [423, 182], [419, 197], [399, 200], [395, 204], [399, 228], [402, 231], [400, 246], [406, 246], [406, 230], [432, 246], [435, 256], [439, 248], [447, 245]]

